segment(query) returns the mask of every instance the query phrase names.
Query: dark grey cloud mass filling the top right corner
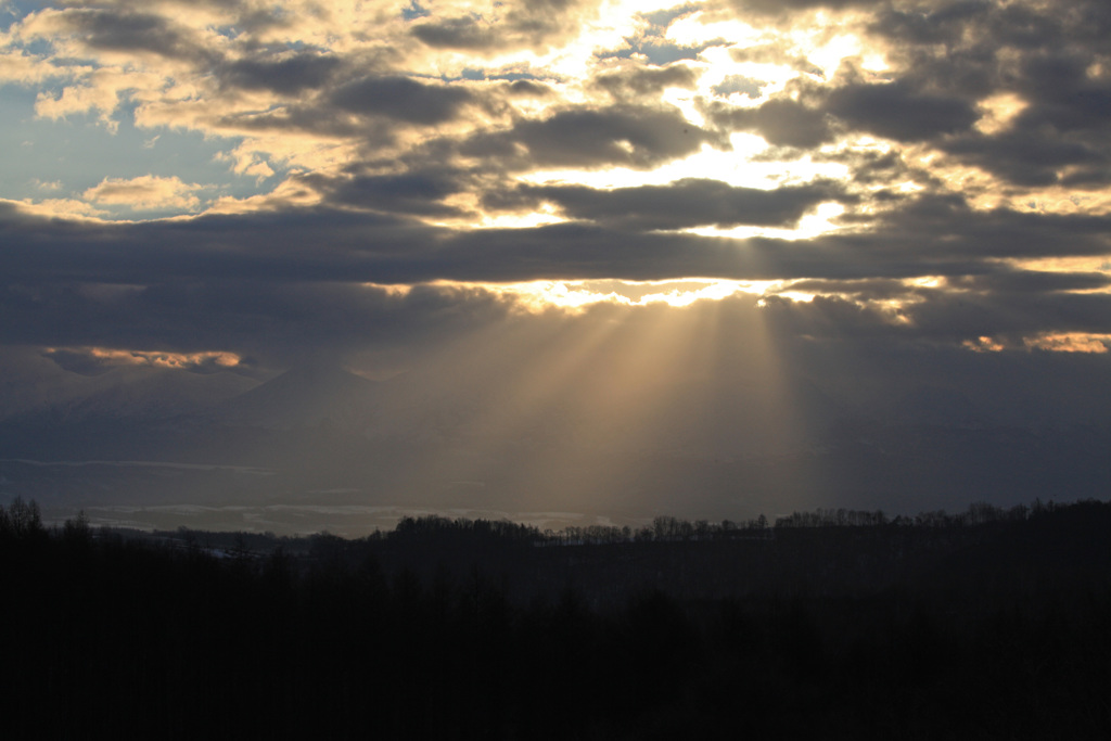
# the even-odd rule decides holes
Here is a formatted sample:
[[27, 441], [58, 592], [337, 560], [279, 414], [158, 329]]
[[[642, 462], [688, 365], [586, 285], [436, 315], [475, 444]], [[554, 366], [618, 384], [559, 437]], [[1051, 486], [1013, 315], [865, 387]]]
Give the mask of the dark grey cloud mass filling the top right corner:
[[[887, 87], [911, 98], [891, 96], [884, 114], [882, 89], [872, 86], [861, 98], [868, 88], [853, 86], [831, 94], [830, 110], [851, 126], [901, 141], [957, 134], [939, 142], [945, 152], [1018, 186], [1104, 182], [1111, 158], [1111, 9], [1085, 0], [1063, 9], [989, 2], [927, 12], [889, 8], [870, 30], [893, 42], [890, 53], [900, 71]], [[1093, 76], [1101, 64], [1102, 79]], [[941, 104], [934, 112], [914, 100], [925, 94], [920, 90], [931, 90]], [[1015, 96], [1022, 110], [991, 133], [970, 131], [968, 106], [997, 93]], [[908, 129], [915, 109], [921, 123]]]

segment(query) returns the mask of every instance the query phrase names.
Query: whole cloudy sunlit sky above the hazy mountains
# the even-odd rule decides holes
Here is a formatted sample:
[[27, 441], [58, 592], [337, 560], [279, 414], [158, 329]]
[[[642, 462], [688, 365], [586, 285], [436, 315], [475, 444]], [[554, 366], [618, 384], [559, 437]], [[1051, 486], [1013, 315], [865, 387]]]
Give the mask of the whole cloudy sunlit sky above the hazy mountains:
[[8, 404], [326, 359], [617, 435], [693, 399], [654, 423], [733, 452], [819, 407], [1105, 424], [1108, 38], [1105, 0], [0, 0]]

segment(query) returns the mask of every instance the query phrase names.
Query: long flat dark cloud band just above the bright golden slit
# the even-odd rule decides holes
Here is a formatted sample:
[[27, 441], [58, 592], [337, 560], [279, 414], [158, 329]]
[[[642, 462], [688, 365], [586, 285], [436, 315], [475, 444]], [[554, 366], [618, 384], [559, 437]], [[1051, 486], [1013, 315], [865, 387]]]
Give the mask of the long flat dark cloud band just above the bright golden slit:
[[852, 254], [860, 253], [859, 246], [745, 243], [584, 224], [451, 231], [342, 210], [131, 226], [31, 220], [20, 231], [0, 249], [0, 272], [30, 301], [22, 304], [28, 310], [34, 306], [38, 287], [46, 284], [655, 280], [798, 277], [798, 271], [840, 276], [864, 270], [863, 263], [851, 263], [860, 259]]

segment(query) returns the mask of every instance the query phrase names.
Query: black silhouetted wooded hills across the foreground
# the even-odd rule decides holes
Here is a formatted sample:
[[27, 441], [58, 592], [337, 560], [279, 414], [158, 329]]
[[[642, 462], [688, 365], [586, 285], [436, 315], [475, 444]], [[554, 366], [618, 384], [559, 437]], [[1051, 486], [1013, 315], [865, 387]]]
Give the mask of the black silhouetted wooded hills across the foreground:
[[0, 517], [4, 738], [1111, 734], [1111, 504], [357, 541]]

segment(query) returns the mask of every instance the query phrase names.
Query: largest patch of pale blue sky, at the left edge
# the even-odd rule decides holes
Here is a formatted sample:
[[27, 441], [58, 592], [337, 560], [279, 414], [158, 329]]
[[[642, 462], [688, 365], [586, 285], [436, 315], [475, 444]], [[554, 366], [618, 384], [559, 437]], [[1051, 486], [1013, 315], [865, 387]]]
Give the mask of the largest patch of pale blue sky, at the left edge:
[[[113, 114], [114, 132], [96, 114], [40, 119], [34, 116], [34, 100], [33, 90], [0, 87], [0, 109], [6, 113], [0, 116], [0, 151], [6, 153], [0, 169], [0, 198], [80, 199], [106, 178], [178, 177], [184, 183], [206, 186], [196, 192], [198, 208], [173, 211], [188, 213], [220, 196], [246, 198], [269, 192], [283, 174], [279, 163], [271, 163], [276, 173], [261, 181], [236, 173], [231, 162], [218, 156], [234, 149], [240, 138], [206, 137], [164, 127], [137, 129], [129, 107]], [[170, 216], [121, 211], [121, 216], [129, 213], [142, 218]]]

